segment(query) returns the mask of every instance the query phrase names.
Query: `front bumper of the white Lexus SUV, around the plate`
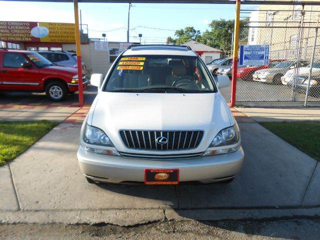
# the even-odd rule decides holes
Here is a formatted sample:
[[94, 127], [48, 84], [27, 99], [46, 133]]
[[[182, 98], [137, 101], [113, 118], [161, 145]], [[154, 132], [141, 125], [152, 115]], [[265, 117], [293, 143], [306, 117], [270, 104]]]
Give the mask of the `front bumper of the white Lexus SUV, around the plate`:
[[232, 153], [185, 159], [140, 159], [85, 151], [79, 146], [77, 159], [85, 176], [103, 182], [144, 182], [144, 169], [179, 169], [179, 181], [217, 182], [237, 174], [242, 166], [242, 147]]

